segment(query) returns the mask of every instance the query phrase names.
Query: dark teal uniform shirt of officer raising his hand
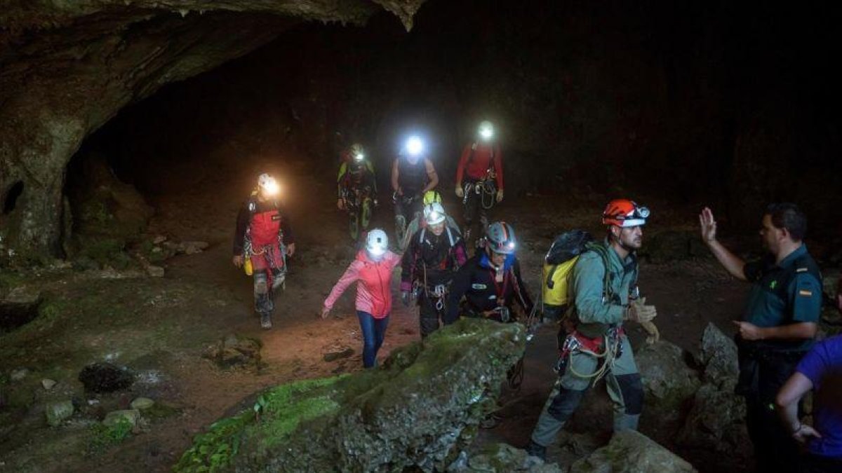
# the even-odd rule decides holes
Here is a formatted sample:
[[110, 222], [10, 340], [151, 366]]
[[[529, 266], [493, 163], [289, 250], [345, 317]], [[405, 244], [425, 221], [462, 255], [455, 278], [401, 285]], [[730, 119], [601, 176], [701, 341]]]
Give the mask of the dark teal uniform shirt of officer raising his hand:
[[[796, 261], [798, 260], [798, 261]], [[798, 267], [796, 267], [796, 265]], [[794, 276], [790, 277], [792, 272]], [[743, 311], [743, 321], [757, 327], [780, 327], [798, 322], [818, 322], [822, 308], [822, 283], [818, 266], [798, 247], [775, 264], [771, 255], [743, 267], [746, 279], [753, 282]], [[789, 279], [787, 284], [786, 279]], [[786, 287], [783, 287], [786, 285]], [[806, 350], [813, 340], [761, 340], [756, 347]]]

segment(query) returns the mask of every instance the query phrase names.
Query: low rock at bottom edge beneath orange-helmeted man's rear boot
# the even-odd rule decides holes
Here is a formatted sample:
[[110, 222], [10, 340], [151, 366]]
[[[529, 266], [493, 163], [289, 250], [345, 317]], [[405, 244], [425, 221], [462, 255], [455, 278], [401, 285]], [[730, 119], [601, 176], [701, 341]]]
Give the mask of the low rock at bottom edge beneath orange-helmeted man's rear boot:
[[562, 473], [556, 464], [546, 464], [536, 457], [530, 457], [524, 449], [509, 444], [488, 445], [480, 454], [460, 457], [447, 468], [448, 473], [508, 473], [524, 471], [529, 473]]

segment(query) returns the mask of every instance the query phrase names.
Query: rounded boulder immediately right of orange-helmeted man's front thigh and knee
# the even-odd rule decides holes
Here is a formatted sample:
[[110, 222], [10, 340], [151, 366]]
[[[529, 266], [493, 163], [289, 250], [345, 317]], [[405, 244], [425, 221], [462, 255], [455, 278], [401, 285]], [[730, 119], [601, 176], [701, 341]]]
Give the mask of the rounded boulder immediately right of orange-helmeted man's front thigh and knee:
[[699, 375], [685, 363], [681, 348], [659, 341], [635, 353], [646, 392], [647, 409], [659, 416], [677, 417], [680, 407], [701, 385]]

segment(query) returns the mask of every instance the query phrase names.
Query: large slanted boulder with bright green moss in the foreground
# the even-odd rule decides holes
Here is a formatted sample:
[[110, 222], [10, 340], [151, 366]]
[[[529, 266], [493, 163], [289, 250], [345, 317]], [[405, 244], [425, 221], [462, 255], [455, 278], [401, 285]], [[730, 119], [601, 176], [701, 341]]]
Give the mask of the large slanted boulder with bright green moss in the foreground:
[[197, 436], [174, 471], [445, 470], [524, 349], [519, 324], [461, 319], [379, 368], [264, 391]]

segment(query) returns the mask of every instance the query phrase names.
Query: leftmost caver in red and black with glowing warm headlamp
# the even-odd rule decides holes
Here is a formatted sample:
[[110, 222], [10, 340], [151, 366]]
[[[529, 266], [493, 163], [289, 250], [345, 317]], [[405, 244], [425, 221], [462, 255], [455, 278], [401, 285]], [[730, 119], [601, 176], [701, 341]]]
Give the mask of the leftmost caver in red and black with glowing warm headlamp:
[[285, 258], [296, 252], [290, 219], [278, 203], [279, 189], [272, 176], [260, 174], [258, 188], [237, 213], [234, 233], [232, 261], [237, 268], [242, 268], [246, 258], [251, 264], [254, 310], [260, 314], [260, 325], [265, 329], [272, 328], [273, 291], [284, 284]]

